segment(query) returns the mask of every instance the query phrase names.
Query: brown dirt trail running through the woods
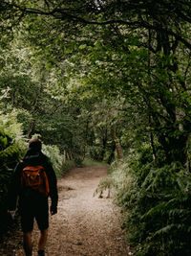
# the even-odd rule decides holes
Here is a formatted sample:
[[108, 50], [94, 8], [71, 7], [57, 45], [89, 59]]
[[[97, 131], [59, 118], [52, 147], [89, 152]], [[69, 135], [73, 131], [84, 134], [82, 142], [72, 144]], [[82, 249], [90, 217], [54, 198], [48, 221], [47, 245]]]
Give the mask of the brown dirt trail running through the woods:
[[[106, 166], [74, 168], [58, 180], [58, 213], [50, 218], [49, 256], [131, 255], [120, 229], [120, 216], [112, 198], [93, 197]], [[38, 236], [33, 232], [33, 256]], [[6, 250], [7, 249], [7, 253]], [[22, 233], [17, 231], [0, 245], [1, 256], [23, 256]]]

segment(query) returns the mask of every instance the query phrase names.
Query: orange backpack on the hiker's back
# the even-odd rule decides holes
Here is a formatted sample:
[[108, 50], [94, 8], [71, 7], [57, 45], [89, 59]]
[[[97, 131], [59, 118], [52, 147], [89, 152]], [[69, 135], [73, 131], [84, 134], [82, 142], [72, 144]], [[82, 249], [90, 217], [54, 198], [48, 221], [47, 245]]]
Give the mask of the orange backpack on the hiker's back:
[[50, 187], [44, 167], [41, 165], [26, 166], [21, 175], [21, 187], [38, 191], [48, 197]]

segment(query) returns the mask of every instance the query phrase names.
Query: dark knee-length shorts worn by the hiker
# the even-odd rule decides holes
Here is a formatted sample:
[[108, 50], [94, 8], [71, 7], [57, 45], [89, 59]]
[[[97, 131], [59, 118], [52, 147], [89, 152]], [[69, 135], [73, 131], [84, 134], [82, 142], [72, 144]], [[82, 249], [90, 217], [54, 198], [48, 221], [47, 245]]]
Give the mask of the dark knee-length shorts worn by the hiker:
[[36, 220], [40, 230], [49, 227], [49, 204], [44, 196], [23, 197], [20, 200], [20, 216], [22, 231], [27, 233], [33, 229], [33, 221]]

